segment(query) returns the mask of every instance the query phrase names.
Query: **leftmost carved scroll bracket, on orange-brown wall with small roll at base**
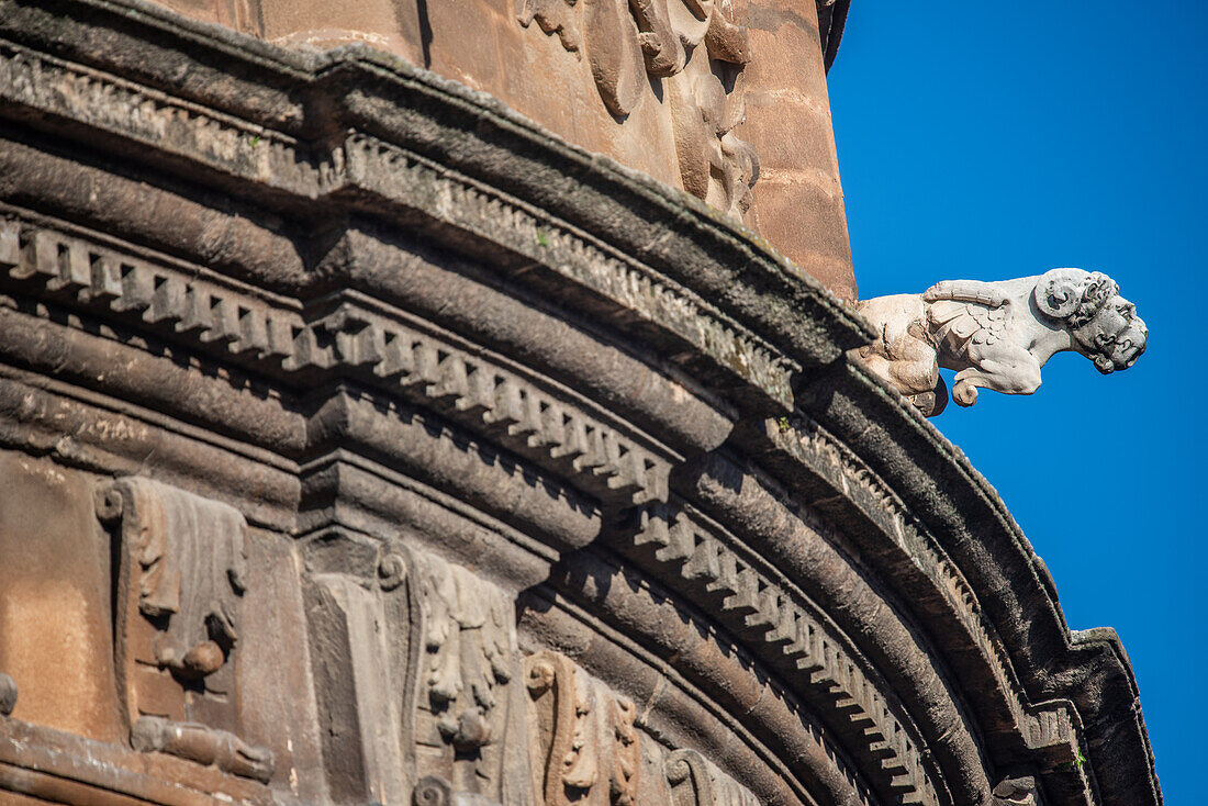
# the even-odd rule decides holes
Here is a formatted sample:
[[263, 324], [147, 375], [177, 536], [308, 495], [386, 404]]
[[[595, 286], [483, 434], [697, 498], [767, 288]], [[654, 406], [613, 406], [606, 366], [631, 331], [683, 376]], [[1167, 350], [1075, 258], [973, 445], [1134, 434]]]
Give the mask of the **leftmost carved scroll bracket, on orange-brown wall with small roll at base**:
[[138, 477], [98, 489], [97, 515], [117, 524], [116, 665], [132, 744], [267, 781], [272, 753], [232, 732], [243, 515]]

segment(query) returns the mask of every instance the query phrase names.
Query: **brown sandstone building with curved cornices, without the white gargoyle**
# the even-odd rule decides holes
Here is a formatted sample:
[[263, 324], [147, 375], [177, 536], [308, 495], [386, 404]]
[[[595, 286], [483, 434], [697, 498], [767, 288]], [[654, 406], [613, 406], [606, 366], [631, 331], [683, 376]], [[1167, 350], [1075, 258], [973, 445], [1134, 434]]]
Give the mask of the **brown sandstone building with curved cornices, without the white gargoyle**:
[[846, 13], [0, 0], [0, 804], [1161, 804], [852, 353]]

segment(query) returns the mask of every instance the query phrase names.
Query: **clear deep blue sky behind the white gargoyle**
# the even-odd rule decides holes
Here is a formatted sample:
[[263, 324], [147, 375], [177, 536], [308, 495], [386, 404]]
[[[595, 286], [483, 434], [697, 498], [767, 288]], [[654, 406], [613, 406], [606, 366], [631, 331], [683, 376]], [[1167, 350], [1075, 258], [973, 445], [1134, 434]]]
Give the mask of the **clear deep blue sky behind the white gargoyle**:
[[861, 297], [1078, 266], [1149, 325], [1126, 372], [1058, 355], [1034, 396], [933, 422], [1070, 627], [1123, 638], [1166, 802], [1203, 802], [1206, 4], [853, 0], [829, 86]]

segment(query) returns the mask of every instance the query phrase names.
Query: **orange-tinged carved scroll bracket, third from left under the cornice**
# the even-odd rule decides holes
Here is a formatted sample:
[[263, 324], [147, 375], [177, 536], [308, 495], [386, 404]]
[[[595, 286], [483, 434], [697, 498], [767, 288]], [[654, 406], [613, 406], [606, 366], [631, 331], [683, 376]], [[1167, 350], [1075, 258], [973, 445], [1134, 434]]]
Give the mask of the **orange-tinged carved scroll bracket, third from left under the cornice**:
[[632, 806], [641, 750], [633, 703], [557, 653], [524, 659], [534, 790], [545, 806]]

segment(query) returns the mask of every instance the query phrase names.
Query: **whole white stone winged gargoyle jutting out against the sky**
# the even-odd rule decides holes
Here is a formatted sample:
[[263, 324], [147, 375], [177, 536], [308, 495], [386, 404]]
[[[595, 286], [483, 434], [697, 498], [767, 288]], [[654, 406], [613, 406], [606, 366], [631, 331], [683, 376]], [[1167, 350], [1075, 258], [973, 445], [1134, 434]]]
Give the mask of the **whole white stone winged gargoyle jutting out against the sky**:
[[1107, 274], [1055, 268], [1039, 277], [983, 283], [946, 280], [920, 295], [858, 303], [877, 338], [856, 353], [925, 416], [947, 405], [940, 367], [956, 370], [952, 399], [977, 402], [977, 387], [1029, 395], [1040, 367], [1074, 350], [1108, 375], [1127, 370], [1149, 331]]

